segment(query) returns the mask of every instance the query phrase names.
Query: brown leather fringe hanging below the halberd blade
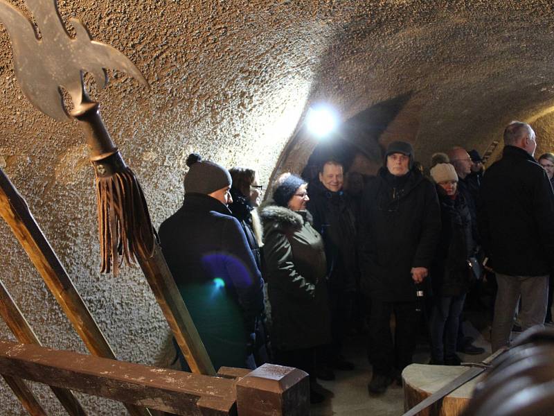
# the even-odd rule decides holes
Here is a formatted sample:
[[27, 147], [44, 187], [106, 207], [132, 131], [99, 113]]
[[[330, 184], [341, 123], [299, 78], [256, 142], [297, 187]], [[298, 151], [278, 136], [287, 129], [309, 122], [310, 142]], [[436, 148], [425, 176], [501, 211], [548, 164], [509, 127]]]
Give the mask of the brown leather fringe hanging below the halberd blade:
[[139, 247], [149, 256], [154, 254], [157, 239], [143, 190], [127, 166], [107, 177], [96, 176], [98, 231], [100, 235], [100, 272], [114, 276], [125, 260], [135, 263]]

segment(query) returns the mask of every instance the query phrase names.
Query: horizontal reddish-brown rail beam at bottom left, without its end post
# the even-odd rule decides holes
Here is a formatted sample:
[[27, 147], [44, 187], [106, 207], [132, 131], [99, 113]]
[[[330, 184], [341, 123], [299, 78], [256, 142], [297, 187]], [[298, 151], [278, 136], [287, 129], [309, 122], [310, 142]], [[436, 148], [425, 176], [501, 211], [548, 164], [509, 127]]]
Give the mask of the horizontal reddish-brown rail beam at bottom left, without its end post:
[[235, 381], [0, 340], [0, 374], [176, 415], [236, 415]]

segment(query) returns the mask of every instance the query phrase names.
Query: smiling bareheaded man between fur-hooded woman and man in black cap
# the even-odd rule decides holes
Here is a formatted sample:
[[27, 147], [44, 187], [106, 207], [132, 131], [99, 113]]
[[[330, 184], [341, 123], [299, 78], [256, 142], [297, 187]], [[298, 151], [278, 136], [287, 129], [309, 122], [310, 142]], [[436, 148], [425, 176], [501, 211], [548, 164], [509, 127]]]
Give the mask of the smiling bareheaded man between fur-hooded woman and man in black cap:
[[[328, 367], [353, 370], [354, 365], [341, 356], [343, 340], [352, 324], [352, 307], [359, 274], [355, 214], [350, 200], [343, 192], [343, 183], [343, 165], [332, 159], [325, 161], [319, 171], [319, 180], [313, 180], [308, 185], [310, 200], [307, 210], [313, 216], [314, 228], [323, 237], [328, 265], [332, 345], [323, 354], [323, 361]], [[320, 366], [318, 371], [321, 379], [334, 378], [332, 371], [325, 367]]]

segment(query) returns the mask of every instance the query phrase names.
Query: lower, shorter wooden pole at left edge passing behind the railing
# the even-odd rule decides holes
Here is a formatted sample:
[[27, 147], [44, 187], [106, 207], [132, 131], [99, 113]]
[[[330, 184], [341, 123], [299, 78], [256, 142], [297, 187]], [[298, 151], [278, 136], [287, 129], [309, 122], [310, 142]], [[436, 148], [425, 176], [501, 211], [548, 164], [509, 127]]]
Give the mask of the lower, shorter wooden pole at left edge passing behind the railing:
[[[19, 340], [19, 342], [24, 344], [35, 344], [35, 345], [41, 345], [39, 339], [35, 335], [35, 332], [30, 327], [30, 324], [25, 319], [23, 313], [19, 310], [17, 307], [17, 304], [15, 304], [15, 301], [10, 296], [10, 293], [8, 293], [8, 289], [6, 286], [4, 286], [3, 281], [0, 279], [0, 315], [3, 318], [3, 320], [8, 325], [8, 328], [10, 328], [10, 331], [15, 335], [15, 337]], [[15, 383], [10, 383], [9, 381], [6, 381], [10, 387], [12, 387], [12, 384], [15, 385]], [[23, 384], [23, 385], [21, 385]], [[12, 387], [12, 390], [14, 390], [15, 395], [21, 398], [24, 398], [25, 400], [30, 400], [30, 397], [33, 395], [30, 390], [28, 392], [24, 392], [24, 383], [21, 382], [21, 384], [17, 385], [17, 388], [19, 388], [19, 394], [17, 391], [14, 390]], [[58, 400], [60, 400], [60, 403], [62, 406], [64, 406], [65, 410], [69, 415], [72, 416], [85, 416], [87, 413], [84, 411], [84, 408], [82, 408], [81, 404], [77, 400], [77, 398], [73, 395], [73, 393], [69, 390], [53, 387], [51, 386], [52, 391], [54, 392], [54, 395], [57, 397]], [[34, 399], [34, 397], [33, 397]], [[36, 400], [35, 400], [36, 401]], [[21, 402], [23, 404], [23, 402]], [[24, 407], [26, 405], [24, 404]], [[33, 406], [35, 407], [35, 406]], [[34, 414], [34, 413], [31, 413]]]

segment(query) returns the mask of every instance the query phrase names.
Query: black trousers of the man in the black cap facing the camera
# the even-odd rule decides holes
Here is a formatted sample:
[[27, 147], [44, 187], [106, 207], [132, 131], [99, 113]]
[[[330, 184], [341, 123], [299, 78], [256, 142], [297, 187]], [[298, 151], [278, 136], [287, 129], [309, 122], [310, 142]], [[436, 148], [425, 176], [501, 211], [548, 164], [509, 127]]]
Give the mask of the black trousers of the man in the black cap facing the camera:
[[[412, 363], [419, 333], [420, 312], [416, 302], [383, 302], [371, 299], [368, 358], [373, 372], [394, 375]], [[394, 340], [391, 315], [395, 314]]]

